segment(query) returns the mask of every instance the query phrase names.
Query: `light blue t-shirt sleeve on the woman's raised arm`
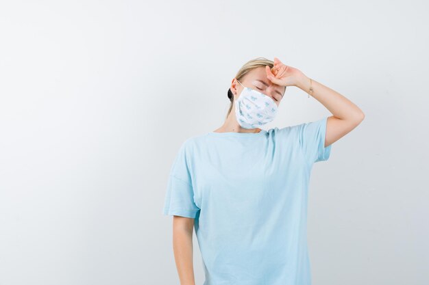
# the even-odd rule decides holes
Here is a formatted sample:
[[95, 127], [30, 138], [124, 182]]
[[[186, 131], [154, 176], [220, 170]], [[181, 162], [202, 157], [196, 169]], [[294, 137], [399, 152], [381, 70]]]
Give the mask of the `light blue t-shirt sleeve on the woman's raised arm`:
[[327, 161], [332, 144], [325, 148], [326, 124], [328, 117], [315, 122], [300, 124], [298, 128], [299, 146], [309, 165], [317, 161]]

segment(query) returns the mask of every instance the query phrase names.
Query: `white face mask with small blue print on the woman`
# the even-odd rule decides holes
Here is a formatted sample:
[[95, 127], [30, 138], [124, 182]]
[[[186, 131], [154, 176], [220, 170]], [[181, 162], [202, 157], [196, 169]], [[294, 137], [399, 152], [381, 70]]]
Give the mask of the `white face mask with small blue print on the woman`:
[[[240, 81], [238, 83], [241, 84]], [[243, 91], [235, 101], [235, 116], [238, 124], [243, 128], [258, 128], [274, 120], [278, 109], [274, 100], [243, 84], [241, 86]]]

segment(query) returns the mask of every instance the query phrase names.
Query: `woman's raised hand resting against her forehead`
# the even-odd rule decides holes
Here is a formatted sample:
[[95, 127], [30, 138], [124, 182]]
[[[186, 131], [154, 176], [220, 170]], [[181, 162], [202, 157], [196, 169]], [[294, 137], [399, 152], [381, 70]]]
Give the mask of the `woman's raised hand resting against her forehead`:
[[284, 87], [297, 86], [302, 81], [302, 78], [305, 77], [304, 73], [300, 70], [282, 64], [277, 57], [274, 57], [273, 68], [265, 66], [265, 71], [267, 72], [267, 79], [269, 81]]

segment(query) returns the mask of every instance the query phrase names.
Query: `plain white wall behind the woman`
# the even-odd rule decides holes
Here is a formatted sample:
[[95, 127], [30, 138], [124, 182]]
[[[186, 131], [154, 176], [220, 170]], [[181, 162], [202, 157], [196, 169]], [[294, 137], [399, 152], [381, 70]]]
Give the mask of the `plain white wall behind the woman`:
[[[365, 120], [312, 169], [314, 284], [428, 284], [428, 3], [2, 1], [0, 284], [179, 284], [167, 176], [249, 59]], [[265, 129], [331, 113], [288, 87]], [[204, 280], [197, 239], [195, 276]]]

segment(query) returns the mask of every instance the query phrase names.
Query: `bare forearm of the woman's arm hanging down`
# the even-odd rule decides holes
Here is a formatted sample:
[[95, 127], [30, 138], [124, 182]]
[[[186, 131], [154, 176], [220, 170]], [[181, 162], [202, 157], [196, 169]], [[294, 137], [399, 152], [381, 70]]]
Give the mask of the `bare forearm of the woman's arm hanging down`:
[[195, 285], [192, 234], [184, 228], [173, 230], [173, 251], [180, 285]]

